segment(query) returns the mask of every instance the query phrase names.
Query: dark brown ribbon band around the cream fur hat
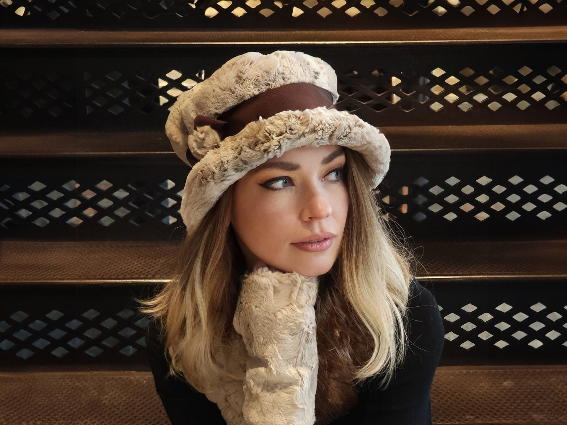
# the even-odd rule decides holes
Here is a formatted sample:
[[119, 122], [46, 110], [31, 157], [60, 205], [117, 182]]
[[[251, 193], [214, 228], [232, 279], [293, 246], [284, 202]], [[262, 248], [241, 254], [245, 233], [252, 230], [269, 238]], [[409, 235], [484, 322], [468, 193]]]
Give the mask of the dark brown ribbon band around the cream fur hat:
[[[269, 118], [282, 111], [304, 111], [304, 109], [318, 107], [335, 108], [330, 91], [311, 83], [290, 83], [269, 88], [246, 99], [217, 118], [197, 115], [194, 120], [194, 129], [210, 125], [222, 140], [239, 133], [249, 122], [257, 121], [260, 117]], [[193, 166], [197, 159], [193, 157], [189, 149], [186, 155], [189, 164]]]

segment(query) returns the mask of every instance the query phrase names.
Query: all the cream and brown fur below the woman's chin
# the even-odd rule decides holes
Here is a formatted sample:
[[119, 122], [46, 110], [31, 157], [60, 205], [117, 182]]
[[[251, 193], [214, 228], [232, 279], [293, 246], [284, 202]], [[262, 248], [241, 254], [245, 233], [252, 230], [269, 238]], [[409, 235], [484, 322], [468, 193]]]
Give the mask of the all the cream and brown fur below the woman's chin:
[[219, 360], [238, 379], [206, 394], [228, 425], [326, 425], [358, 401], [353, 367], [371, 345], [319, 278], [267, 267], [244, 275], [233, 325]]

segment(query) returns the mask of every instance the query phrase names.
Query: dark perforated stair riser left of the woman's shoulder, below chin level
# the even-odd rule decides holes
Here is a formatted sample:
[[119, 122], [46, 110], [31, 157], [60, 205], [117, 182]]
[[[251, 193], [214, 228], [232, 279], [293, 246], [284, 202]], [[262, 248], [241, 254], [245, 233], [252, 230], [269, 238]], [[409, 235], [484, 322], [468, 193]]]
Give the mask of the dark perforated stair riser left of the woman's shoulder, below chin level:
[[154, 286], [0, 286], [0, 368], [147, 369], [148, 317], [136, 298]]

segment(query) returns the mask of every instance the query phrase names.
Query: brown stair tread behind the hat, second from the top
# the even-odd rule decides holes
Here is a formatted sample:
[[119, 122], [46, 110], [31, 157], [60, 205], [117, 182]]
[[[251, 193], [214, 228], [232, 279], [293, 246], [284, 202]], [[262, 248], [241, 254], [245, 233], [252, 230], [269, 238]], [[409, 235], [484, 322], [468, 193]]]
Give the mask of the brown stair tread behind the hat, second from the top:
[[[439, 150], [565, 150], [567, 124], [380, 126], [392, 152]], [[0, 157], [175, 156], [164, 131], [36, 132], [0, 135]]]

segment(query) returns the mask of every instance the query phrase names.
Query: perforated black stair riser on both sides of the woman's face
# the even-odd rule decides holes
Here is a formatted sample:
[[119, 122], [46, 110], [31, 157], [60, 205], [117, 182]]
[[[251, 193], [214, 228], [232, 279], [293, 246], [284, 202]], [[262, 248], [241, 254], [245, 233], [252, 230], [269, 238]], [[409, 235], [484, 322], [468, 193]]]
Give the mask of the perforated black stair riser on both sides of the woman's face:
[[[558, 239], [566, 235], [566, 152], [394, 152], [376, 196], [384, 214], [414, 237]], [[9, 163], [0, 167], [5, 237], [175, 240], [183, 235], [179, 209], [189, 168], [175, 154]]]

